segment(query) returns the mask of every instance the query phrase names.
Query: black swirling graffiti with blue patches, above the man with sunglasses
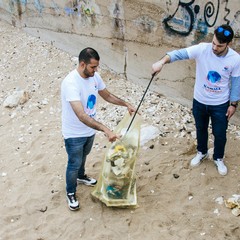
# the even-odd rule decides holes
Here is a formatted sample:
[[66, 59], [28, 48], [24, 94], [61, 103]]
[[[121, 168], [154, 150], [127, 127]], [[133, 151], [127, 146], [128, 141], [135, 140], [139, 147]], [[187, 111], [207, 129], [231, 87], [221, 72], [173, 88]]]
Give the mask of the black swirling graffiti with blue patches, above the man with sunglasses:
[[[203, 38], [208, 34], [208, 29], [215, 26], [219, 17], [220, 4], [222, 4], [224, 22], [231, 25], [236, 31], [237, 26], [235, 25], [237, 23], [239, 25], [239, 11], [231, 22], [228, 18], [230, 14], [228, 0], [223, 0], [221, 3], [220, 0], [207, 1], [206, 3], [198, 2], [201, 3], [201, 6], [195, 0], [179, 0], [173, 13], [163, 20], [166, 29], [183, 36], [188, 36], [194, 29], [199, 33], [199, 37]], [[170, 7], [173, 7], [173, 4], [171, 0], [166, 1], [168, 11], [170, 11]], [[239, 32], [239, 27], [237, 31]], [[238, 32], [236, 35], [238, 35]]]

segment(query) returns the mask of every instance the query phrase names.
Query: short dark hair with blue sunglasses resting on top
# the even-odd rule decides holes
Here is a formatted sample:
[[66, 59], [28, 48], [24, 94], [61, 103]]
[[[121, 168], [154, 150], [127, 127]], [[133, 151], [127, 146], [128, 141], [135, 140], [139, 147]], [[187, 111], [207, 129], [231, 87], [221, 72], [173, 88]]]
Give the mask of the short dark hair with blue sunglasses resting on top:
[[217, 27], [214, 34], [220, 43], [230, 43], [234, 37], [234, 32], [228, 24]]

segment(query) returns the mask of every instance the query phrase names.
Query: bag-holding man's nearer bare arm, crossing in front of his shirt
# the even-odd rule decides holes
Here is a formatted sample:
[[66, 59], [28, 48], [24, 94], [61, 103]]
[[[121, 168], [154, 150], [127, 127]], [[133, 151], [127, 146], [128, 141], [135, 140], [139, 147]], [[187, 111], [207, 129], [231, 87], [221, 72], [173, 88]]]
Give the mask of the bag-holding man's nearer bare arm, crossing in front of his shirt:
[[84, 108], [81, 101], [71, 101], [70, 104], [73, 111], [77, 115], [78, 119], [84, 124], [86, 124], [88, 127], [104, 132], [107, 135], [108, 140], [110, 142], [114, 142], [118, 138], [118, 136], [115, 133], [113, 133], [109, 128], [107, 128], [105, 125], [89, 117], [84, 112]]

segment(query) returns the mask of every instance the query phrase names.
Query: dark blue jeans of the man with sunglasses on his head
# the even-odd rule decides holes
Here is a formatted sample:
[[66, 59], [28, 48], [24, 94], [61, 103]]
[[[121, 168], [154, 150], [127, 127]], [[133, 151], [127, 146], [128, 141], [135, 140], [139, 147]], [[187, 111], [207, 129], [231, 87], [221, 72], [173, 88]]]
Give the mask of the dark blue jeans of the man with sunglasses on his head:
[[212, 123], [214, 136], [213, 159], [223, 158], [227, 142], [227, 109], [229, 102], [221, 105], [205, 105], [193, 99], [193, 116], [197, 131], [197, 150], [203, 154], [208, 151], [208, 126]]

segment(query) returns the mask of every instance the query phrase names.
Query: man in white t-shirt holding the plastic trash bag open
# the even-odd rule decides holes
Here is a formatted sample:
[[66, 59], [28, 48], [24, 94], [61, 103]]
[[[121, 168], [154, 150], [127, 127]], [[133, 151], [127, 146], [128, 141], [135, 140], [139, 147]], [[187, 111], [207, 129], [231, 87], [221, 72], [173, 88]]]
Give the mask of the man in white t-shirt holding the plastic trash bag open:
[[110, 142], [119, 136], [96, 120], [98, 94], [107, 102], [127, 107], [130, 114], [135, 109], [124, 100], [110, 93], [96, 72], [100, 57], [96, 50], [85, 48], [79, 54], [78, 67], [71, 71], [61, 85], [62, 134], [68, 164], [66, 191], [70, 210], [79, 209], [76, 197], [77, 182], [94, 186], [97, 181], [85, 174], [86, 157], [90, 153], [95, 131], [102, 131]]

